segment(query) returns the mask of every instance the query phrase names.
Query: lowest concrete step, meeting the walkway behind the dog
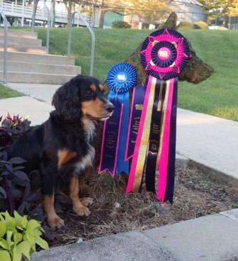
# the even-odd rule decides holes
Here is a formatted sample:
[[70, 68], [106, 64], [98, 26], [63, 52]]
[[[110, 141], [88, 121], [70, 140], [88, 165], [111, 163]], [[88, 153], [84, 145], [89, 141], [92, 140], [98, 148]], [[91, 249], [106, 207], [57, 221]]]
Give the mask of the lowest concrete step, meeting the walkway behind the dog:
[[[72, 79], [72, 74], [46, 74], [36, 72], [8, 72], [8, 82], [24, 82], [34, 84], [64, 84]], [[3, 71], [0, 71], [0, 82], [4, 79]]]

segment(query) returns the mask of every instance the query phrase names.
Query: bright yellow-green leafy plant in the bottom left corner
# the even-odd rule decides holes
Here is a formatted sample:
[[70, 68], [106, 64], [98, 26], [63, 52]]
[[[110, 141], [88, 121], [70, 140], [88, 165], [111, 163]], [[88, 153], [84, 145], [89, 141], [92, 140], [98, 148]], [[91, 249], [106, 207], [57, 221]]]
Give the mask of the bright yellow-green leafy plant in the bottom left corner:
[[6, 211], [0, 213], [0, 260], [21, 261], [23, 256], [30, 260], [30, 254], [35, 252], [36, 245], [49, 248], [41, 238], [43, 230], [39, 221], [19, 215], [14, 211], [10, 216]]

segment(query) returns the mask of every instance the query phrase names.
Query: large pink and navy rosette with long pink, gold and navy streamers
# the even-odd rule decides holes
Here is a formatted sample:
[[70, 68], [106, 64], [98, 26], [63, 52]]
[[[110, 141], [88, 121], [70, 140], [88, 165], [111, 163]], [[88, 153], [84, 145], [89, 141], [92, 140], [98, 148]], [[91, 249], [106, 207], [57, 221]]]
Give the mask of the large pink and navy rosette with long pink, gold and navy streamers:
[[[125, 153], [126, 158], [132, 157], [127, 192], [140, 192], [145, 181], [146, 189], [155, 193], [156, 172], [159, 170], [157, 199], [169, 200], [172, 204], [178, 76], [188, 58], [188, 42], [176, 30], [157, 30], [142, 43], [141, 62], [147, 80], [143, 98], [135, 93], [137, 88], [132, 97]], [[140, 111], [139, 116], [136, 111]]]

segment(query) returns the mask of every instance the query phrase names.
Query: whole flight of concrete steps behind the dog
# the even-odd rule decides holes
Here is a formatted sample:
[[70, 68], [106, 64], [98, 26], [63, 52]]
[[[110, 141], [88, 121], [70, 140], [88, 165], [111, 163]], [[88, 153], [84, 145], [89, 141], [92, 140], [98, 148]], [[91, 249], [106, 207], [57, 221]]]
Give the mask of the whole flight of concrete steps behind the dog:
[[[81, 67], [74, 66], [74, 57], [47, 55], [37, 33], [8, 30], [7, 82], [64, 84]], [[4, 64], [4, 30], [0, 29], [0, 65]], [[4, 80], [0, 66], [0, 82]]]

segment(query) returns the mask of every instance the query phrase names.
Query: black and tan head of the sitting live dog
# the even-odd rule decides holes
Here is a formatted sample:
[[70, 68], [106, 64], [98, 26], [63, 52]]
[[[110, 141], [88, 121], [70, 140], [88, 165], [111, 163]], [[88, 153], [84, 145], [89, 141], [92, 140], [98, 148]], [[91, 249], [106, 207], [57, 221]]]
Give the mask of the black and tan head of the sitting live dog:
[[104, 121], [113, 113], [114, 106], [103, 96], [103, 84], [94, 77], [78, 75], [57, 89], [52, 105], [57, 114], [67, 121], [87, 117]]

